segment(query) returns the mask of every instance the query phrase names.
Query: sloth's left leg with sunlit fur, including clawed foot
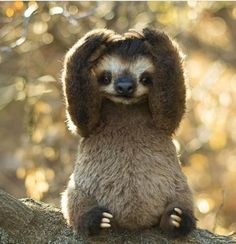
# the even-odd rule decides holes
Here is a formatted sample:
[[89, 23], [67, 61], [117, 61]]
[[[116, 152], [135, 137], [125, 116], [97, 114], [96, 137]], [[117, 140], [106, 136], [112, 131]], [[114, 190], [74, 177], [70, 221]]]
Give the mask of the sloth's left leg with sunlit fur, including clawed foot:
[[106, 208], [98, 206], [94, 198], [76, 189], [73, 176], [62, 194], [61, 206], [68, 224], [76, 232], [95, 235], [101, 229], [111, 227], [111, 213]]

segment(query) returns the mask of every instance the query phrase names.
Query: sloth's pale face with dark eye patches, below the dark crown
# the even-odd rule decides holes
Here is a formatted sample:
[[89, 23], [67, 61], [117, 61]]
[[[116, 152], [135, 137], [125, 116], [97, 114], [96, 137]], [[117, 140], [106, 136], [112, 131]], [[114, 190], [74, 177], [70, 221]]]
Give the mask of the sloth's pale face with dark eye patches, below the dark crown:
[[154, 66], [145, 56], [130, 61], [117, 55], [106, 55], [94, 72], [104, 97], [116, 103], [133, 104], [147, 97]]

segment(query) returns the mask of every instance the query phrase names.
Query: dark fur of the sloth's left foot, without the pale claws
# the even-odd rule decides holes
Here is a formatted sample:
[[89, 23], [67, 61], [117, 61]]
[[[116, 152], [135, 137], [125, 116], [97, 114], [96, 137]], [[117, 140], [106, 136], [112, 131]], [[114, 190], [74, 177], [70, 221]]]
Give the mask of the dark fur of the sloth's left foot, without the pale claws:
[[97, 235], [101, 231], [103, 212], [109, 213], [106, 208], [94, 207], [83, 214], [78, 223], [78, 230], [87, 235]]

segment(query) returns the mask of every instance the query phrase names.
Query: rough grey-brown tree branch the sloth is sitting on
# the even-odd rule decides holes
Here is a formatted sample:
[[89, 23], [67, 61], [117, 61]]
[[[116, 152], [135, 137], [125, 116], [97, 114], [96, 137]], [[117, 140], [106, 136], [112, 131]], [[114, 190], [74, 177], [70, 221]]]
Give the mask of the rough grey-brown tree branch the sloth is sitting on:
[[17, 200], [0, 190], [0, 243], [236, 243], [230, 237], [197, 229], [188, 238], [171, 240], [158, 228], [104, 232], [95, 237], [76, 235], [59, 209], [32, 199]]

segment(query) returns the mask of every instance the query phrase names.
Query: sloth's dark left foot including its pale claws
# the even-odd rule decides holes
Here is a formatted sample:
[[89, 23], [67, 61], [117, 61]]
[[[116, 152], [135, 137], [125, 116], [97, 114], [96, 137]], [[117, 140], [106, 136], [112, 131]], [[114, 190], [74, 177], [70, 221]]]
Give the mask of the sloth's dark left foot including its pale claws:
[[79, 230], [88, 235], [97, 235], [101, 229], [111, 227], [112, 217], [107, 209], [94, 207], [81, 216], [78, 226]]

